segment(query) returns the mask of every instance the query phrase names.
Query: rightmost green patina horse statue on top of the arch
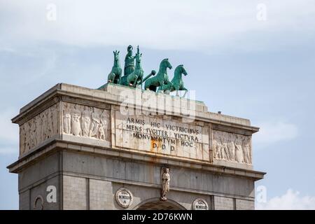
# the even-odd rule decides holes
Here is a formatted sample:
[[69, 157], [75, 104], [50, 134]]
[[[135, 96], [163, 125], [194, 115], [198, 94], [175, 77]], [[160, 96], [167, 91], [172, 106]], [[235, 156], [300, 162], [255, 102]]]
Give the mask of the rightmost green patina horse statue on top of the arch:
[[185, 97], [188, 90], [183, 85], [183, 79], [181, 77], [182, 74], [185, 76], [188, 75], [187, 71], [183, 67], [183, 64], [176, 67], [172, 81], [168, 84], [162, 85], [159, 90], [163, 90], [166, 94], [176, 90], [176, 96], [179, 96], [179, 90], [185, 90], [185, 93], [183, 94], [183, 97]]

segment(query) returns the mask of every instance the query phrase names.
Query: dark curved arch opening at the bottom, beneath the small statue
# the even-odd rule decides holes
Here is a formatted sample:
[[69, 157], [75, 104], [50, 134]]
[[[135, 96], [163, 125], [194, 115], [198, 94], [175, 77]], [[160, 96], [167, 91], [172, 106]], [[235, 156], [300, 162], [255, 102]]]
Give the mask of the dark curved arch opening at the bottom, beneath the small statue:
[[178, 202], [167, 199], [162, 202], [159, 197], [153, 197], [148, 200], [140, 202], [134, 207], [134, 210], [186, 210]]

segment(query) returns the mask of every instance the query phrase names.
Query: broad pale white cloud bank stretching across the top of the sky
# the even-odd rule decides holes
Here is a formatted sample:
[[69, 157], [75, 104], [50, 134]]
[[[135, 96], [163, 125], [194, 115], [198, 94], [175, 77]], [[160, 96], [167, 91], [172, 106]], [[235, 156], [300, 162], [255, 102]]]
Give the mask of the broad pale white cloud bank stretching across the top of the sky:
[[[57, 6], [56, 21], [47, 20], [50, 3]], [[3, 44], [31, 40], [209, 51], [262, 50], [268, 45], [275, 48], [300, 43], [302, 38], [309, 38], [310, 30], [314, 31], [313, 1], [263, 1], [267, 7], [265, 22], [256, 18], [258, 3], [4, 0], [0, 3], [0, 34]]]

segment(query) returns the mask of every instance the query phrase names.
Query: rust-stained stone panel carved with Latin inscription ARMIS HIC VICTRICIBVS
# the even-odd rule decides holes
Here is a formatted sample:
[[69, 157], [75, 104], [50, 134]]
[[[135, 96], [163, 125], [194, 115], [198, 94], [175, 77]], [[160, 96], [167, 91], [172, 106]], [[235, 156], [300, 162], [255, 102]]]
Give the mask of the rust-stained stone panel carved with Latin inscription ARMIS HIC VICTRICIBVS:
[[160, 116], [123, 116], [116, 111], [116, 147], [209, 161], [209, 131]]

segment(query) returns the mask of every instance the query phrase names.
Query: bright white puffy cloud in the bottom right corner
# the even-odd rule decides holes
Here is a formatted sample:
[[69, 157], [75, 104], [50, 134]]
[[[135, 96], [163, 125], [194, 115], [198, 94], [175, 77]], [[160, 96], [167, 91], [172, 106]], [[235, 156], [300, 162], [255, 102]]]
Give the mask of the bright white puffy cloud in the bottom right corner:
[[286, 194], [273, 197], [266, 203], [257, 203], [255, 209], [291, 210], [315, 209], [315, 197], [301, 196], [298, 191], [288, 189]]

